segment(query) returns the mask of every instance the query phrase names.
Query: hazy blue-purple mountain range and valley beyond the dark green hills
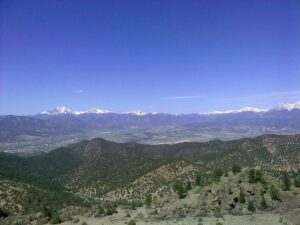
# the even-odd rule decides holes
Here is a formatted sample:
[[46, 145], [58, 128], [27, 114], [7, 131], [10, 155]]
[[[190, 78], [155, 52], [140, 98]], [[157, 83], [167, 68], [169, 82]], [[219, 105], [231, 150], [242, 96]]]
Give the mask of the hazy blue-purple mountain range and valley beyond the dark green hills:
[[0, 151], [49, 151], [86, 138], [147, 144], [231, 140], [300, 132], [300, 102], [270, 110], [245, 107], [210, 113], [166, 114], [64, 106], [33, 116], [0, 116]]

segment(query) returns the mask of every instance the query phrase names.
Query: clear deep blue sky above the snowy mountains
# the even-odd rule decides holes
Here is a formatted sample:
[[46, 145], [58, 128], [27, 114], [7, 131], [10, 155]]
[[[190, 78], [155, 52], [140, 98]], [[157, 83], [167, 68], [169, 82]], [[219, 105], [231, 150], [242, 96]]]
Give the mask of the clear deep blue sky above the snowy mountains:
[[0, 114], [296, 101], [299, 0], [0, 2]]

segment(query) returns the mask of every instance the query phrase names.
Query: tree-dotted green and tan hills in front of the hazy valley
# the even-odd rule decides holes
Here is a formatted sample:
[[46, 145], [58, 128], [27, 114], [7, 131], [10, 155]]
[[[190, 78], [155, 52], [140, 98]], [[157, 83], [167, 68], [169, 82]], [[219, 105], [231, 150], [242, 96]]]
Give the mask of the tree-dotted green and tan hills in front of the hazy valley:
[[[173, 145], [114, 143], [96, 138], [38, 156], [1, 153], [0, 208], [10, 212], [2, 220], [10, 224], [21, 214], [33, 216], [45, 208], [52, 210], [51, 218], [57, 213], [110, 214], [109, 210], [113, 213], [116, 207], [125, 212], [133, 202], [134, 208], [142, 206], [147, 196], [157, 210], [153, 216], [151, 210], [143, 213], [151, 220], [198, 217], [204, 209], [204, 217], [247, 215], [247, 204], [235, 202], [241, 189], [259, 211], [259, 193], [265, 190], [267, 204], [272, 206], [268, 212], [278, 214], [299, 202], [299, 148], [300, 135], [263, 135]], [[242, 172], [231, 172], [235, 164], [243, 165]], [[292, 192], [282, 188], [284, 174], [294, 199]], [[280, 190], [279, 201], [267, 198], [272, 185]], [[234, 194], [228, 194], [231, 192]], [[186, 212], [182, 212], [184, 205], [188, 205]]]

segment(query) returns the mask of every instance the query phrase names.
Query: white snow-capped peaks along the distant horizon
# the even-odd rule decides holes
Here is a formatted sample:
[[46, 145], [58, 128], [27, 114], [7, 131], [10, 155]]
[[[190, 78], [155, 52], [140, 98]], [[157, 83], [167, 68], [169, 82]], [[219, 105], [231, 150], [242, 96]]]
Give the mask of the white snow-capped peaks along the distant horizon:
[[[235, 110], [225, 110], [225, 111], [212, 111], [207, 113], [199, 113], [199, 115], [220, 115], [220, 114], [235, 114], [235, 113], [243, 113], [243, 112], [254, 112], [254, 113], [266, 113], [269, 111], [292, 111], [294, 109], [300, 109], [300, 101], [294, 104], [280, 104], [271, 109], [260, 109], [260, 108], [253, 108], [253, 107], [243, 107], [241, 109]], [[116, 113], [111, 112], [106, 109], [100, 108], [91, 108], [86, 111], [72, 111], [71, 109], [65, 106], [59, 106], [54, 109], [42, 112], [43, 115], [63, 115], [63, 114], [73, 114], [73, 115], [83, 115], [83, 114], [106, 114], [106, 113]], [[117, 114], [132, 114], [137, 116], [145, 116], [147, 114], [157, 114], [156, 112], [146, 113], [140, 110], [134, 110], [125, 113], [117, 113]]]

